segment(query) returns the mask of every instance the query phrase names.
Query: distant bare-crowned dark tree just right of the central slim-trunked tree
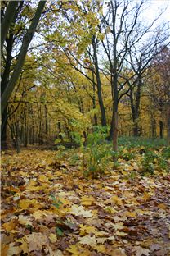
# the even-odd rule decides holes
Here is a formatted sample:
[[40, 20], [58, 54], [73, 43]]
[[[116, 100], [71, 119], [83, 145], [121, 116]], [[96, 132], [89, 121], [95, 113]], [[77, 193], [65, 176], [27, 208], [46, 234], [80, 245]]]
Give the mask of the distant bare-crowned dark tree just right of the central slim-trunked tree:
[[[134, 72], [132, 81], [129, 81], [129, 98], [131, 103], [132, 121], [133, 121], [133, 135], [140, 135], [139, 117], [141, 107], [141, 94], [145, 87], [145, 77], [150, 76], [150, 67], [153, 64], [154, 58], [159, 55], [160, 47], [168, 39], [168, 34], [164, 34], [160, 31], [165, 31], [166, 25], [158, 27], [154, 35], [151, 35], [145, 43], [136, 43], [129, 48], [129, 66]], [[148, 28], [143, 30], [142, 37], [145, 38], [148, 33]], [[133, 86], [131, 86], [133, 83]]]

